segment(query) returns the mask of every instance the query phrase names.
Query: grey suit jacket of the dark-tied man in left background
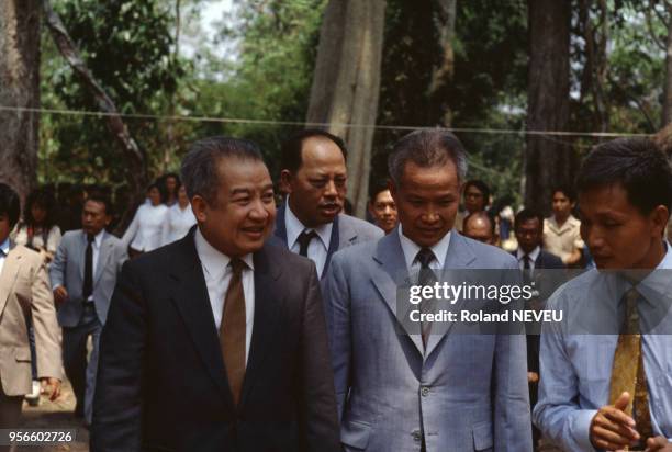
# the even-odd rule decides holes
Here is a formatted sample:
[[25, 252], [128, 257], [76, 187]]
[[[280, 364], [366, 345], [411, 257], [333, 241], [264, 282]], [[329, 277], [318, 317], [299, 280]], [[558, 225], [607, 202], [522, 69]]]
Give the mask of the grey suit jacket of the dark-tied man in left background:
[[[63, 285], [69, 295], [68, 300], [58, 306], [58, 324], [61, 327], [76, 327], [81, 318], [86, 250], [87, 238], [83, 230], [70, 230], [63, 236], [49, 268], [52, 287]], [[96, 274], [93, 274], [93, 304], [102, 325], [105, 325], [108, 318], [116, 275], [126, 259], [128, 256], [122, 241], [107, 231], [103, 233]]]

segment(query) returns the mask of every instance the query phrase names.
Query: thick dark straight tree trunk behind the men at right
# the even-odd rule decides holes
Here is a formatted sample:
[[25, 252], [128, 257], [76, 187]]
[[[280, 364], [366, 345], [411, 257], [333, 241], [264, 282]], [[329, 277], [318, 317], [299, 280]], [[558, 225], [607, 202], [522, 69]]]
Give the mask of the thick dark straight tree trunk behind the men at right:
[[[569, 122], [570, 3], [529, 0], [528, 131], [565, 131]], [[550, 212], [551, 190], [570, 183], [576, 156], [564, 137], [527, 135], [525, 205]]]

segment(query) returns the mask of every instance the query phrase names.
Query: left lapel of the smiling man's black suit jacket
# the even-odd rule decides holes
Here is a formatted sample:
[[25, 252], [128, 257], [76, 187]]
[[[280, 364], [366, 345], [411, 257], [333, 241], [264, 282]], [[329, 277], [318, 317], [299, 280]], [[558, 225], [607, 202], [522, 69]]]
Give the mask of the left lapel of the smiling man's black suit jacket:
[[212, 306], [203, 269], [194, 244], [195, 227], [179, 242], [175, 256], [175, 271], [170, 276], [176, 281], [176, 292], [172, 302], [177, 307], [194, 348], [201, 355], [210, 376], [220, 389], [226, 403], [233, 406], [233, 396], [222, 358], [220, 337], [215, 328]]

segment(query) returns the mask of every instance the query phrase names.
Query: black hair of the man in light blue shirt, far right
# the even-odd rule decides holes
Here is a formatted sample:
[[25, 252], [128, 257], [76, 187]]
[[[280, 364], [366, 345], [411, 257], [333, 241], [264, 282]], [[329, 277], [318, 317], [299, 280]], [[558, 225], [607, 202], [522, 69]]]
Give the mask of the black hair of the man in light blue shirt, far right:
[[670, 211], [672, 168], [649, 138], [617, 138], [594, 147], [585, 158], [576, 177], [580, 193], [615, 184], [643, 215], [659, 205]]

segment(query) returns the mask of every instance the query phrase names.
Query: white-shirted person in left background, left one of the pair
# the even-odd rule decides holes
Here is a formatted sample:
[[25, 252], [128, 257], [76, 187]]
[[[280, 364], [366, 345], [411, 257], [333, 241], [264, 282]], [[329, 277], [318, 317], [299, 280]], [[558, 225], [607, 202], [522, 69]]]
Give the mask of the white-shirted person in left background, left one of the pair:
[[149, 185], [147, 194], [149, 203], [137, 208], [128, 229], [122, 237], [124, 245], [131, 247], [128, 251], [131, 257], [153, 251], [163, 245], [161, 227], [166, 221], [168, 207], [161, 204], [161, 192], [156, 183]]

